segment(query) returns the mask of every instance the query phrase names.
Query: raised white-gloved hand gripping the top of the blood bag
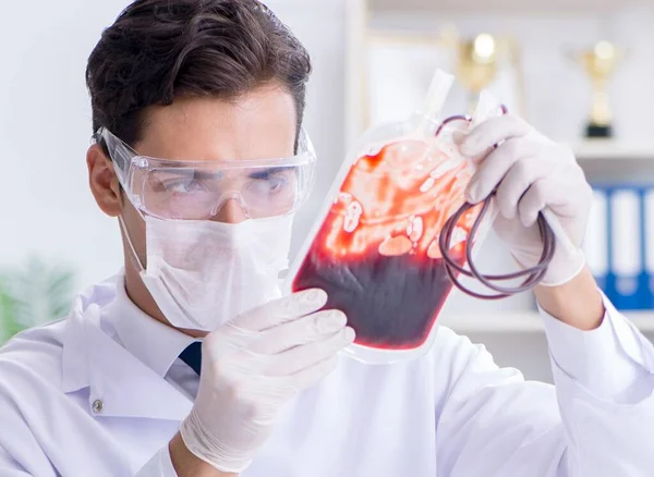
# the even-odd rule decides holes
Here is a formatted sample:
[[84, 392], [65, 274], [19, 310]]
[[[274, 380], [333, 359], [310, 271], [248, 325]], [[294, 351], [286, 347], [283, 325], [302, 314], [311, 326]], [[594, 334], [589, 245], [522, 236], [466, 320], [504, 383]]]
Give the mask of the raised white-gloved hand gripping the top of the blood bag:
[[593, 192], [572, 151], [510, 114], [482, 122], [458, 142], [461, 154], [479, 163], [467, 199], [477, 204], [496, 189], [499, 213], [493, 227], [518, 265], [538, 262], [543, 242], [535, 222], [548, 207], [577, 249], [571, 254], [557, 241], [541, 283], [554, 286], [574, 278], [585, 262], [580, 246]]

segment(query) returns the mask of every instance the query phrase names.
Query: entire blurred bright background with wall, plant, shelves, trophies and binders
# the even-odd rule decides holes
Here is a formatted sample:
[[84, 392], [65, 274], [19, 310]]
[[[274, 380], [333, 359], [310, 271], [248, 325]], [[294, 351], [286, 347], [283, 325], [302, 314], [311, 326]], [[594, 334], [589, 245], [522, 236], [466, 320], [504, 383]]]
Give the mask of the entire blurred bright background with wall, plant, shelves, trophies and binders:
[[[126, 0], [10, 2], [0, 17], [0, 342], [60, 318], [71, 297], [116, 273], [116, 220], [88, 191], [86, 60]], [[293, 254], [346, 151], [371, 125], [421, 106], [436, 68], [457, 74], [449, 112], [483, 87], [569, 144], [596, 191], [584, 241], [605, 293], [654, 338], [654, 5], [650, 0], [269, 0], [304, 42], [314, 75], [305, 126], [316, 189]], [[571, 191], [573, 193], [573, 191]], [[489, 236], [485, 270], [511, 268]], [[452, 292], [443, 322], [500, 365], [549, 381], [530, 294], [480, 302]]]

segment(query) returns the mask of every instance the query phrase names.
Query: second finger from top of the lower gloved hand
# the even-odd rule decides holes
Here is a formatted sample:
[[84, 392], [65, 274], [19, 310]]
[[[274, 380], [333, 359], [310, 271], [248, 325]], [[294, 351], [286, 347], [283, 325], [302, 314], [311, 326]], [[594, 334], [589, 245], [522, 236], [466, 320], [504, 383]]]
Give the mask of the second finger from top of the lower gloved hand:
[[251, 350], [265, 355], [278, 354], [331, 335], [342, 330], [347, 322], [346, 314], [340, 310], [318, 311], [259, 332]]

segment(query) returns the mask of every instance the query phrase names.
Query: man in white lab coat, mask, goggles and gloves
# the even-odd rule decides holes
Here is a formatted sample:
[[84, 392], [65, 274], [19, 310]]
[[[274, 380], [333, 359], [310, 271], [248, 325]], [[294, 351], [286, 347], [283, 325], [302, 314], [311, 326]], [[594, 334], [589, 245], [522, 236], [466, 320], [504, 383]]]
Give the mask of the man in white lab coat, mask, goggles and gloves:
[[[654, 475], [654, 348], [579, 252], [535, 289], [556, 388], [445, 328], [420, 359], [365, 366], [339, 354], [353, 331], [324, 292], [280, 297], [308, 74], [255, 0], [138, 0], [104, 33], [87, 164], [124, 273], [0, 352], [0, 475]], [[590, 187], [565, 147], [504, 117], [460, 148], [521, 266], [544, 207], [579, 245]]]

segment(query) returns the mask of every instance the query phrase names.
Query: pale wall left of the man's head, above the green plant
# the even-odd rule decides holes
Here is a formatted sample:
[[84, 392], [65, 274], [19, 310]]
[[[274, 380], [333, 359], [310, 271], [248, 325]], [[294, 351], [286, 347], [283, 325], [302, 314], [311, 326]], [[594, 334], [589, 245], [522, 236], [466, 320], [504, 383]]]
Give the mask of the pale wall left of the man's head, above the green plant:
[[[80, 282], [121, 264], [116, 223], [87, 187], [86, 59], [124, 0], [7, 2], [0, 28], [0, 266], [37, 253]], [[28, 19], [28, 20], [27, 20]]]

